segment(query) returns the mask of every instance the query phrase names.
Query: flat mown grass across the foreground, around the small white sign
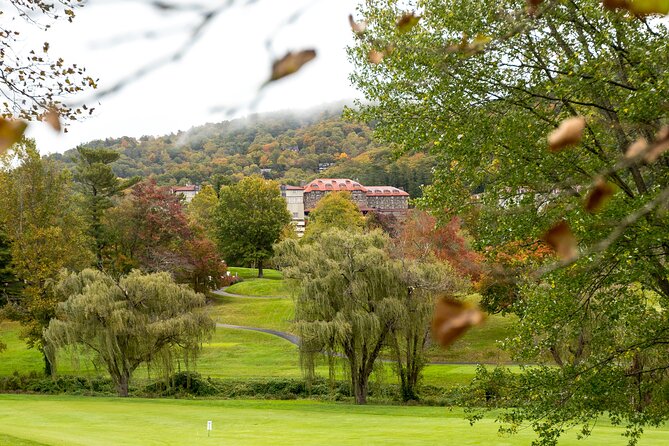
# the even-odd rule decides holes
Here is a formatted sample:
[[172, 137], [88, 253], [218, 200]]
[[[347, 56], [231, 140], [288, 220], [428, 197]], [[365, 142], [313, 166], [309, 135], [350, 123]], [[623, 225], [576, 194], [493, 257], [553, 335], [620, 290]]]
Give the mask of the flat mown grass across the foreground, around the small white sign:
[[[189, 401], [0, 395], [0, 435], [43, 445], [527, 445], [530, 429], [500, 436], [492, 418], [471, 427], [461, 409], [352, 406], [316, 401]], [[207, 437], [207, 421], [213, 430]], [[586, 441], [568, 432], [560, 445], [624, 445], [623, 430], [598, 423]], [[0, 436], [0, 440], [3, 437]], [[23, 440], [24, 443], [18, 443]], [[36, 443], [33, 443], [36, 442]], [[641, 446], [664, 445], [649, 429]]]

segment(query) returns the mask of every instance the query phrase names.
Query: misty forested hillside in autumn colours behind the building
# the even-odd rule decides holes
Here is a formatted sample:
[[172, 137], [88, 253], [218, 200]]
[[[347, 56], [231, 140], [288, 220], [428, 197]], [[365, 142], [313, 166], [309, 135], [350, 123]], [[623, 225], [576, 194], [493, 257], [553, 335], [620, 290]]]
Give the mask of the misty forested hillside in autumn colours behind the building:
[[[380, 145], [370, 126], [343, 120], [342, 107], [278, 112], [205, 124], [164, 136], [95, 140], [89, 148], [119, 152], [121, 178], [154, 178], [159, 184], [239, 181], [260, 174], [300, 185], [316, 177], [345, 177], [366, 185], [390, 185], [421, 195], [432, 180], [434, 160], [423, 153], [397, 154]], [[50, 155], [74, 166], [76, 150]]]

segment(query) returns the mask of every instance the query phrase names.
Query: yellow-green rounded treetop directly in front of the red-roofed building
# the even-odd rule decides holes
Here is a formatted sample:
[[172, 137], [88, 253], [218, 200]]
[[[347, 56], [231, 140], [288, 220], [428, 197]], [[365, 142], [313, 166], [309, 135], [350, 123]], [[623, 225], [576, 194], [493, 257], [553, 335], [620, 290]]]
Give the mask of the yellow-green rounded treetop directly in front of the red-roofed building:
[[311, 240], [330, 228], [361, 231], [364, 226], [365, 219], [350, 192], [331, 192], [309, 213], [304, 239]]

